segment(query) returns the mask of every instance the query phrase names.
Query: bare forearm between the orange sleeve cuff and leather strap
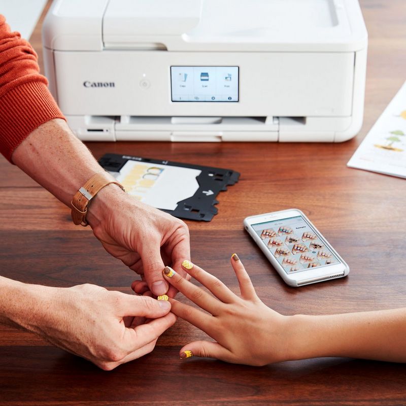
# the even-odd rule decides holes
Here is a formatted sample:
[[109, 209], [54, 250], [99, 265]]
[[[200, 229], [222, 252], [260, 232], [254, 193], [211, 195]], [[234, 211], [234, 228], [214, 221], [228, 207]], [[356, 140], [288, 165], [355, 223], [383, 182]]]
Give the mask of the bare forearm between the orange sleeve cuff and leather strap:
[[67, 206], [88, 179], [103, 172], [61, 119], [48, 121], [32, 131], [16, 148], [12, 160]]

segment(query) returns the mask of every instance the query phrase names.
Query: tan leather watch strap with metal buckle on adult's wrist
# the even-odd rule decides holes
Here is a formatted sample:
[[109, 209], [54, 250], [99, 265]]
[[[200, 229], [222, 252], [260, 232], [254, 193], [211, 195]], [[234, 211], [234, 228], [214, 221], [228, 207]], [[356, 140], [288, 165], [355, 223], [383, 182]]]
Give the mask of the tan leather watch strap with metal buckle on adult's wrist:
[[123, 186], [113, 179], [107, 173], [95, 174], [75, 193], [71, 202], [72, 220], [75, 224], [87, 226], [86, 214], [89, 202], [105, 186], [115, 183], [124, 190]]

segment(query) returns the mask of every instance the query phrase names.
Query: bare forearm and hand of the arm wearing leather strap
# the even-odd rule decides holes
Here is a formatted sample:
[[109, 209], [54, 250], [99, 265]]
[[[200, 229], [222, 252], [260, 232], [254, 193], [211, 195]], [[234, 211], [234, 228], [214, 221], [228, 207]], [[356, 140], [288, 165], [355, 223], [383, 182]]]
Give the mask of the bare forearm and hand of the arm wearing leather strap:
[[[15, 149], [12, 159], [69, 207], [78, 188], [104, 171], [60, 119], [32, 131]], [[189, 231], [183, 221], [141, 203], [117, 185], [110, 184], [97, 193], [86, 220], [105, 249], [144, 276], [157, 296], [168, 289], [162, 278], [164, 266], [181, 271], [180, 258], [190, 257]], [[175, 293], [172, 288], [168, 295]]]

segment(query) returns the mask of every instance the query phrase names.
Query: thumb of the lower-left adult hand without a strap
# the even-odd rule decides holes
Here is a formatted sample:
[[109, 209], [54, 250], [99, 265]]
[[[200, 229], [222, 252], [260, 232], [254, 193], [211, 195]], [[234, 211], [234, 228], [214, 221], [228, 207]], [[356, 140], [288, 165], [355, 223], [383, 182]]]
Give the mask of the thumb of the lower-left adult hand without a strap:
[[148, 296], [127, 295], [124, 293], [122, 295], [119, 316], [142, 316], [156, 319], [166, 315], [171, 310], [171, 303], [166, 300], [156, 300]]

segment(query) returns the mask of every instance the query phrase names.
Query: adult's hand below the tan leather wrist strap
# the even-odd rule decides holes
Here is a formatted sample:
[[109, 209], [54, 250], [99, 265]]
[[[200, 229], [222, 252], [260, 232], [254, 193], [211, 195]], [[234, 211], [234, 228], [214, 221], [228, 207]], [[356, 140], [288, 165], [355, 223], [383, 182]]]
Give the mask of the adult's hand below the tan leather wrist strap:
[[156, 296], [175, 296], [175, 288], [168, 291], [162, 269], [170, 265], [183, 273], [181, 262], [190, 259], [189, 230], [183, 221], [143, 204], [114, 184], [97, 193], [87, 220], [104, 248], [141, 275], [145, 282], [135, 283], [137, 293], [151, 290]]

